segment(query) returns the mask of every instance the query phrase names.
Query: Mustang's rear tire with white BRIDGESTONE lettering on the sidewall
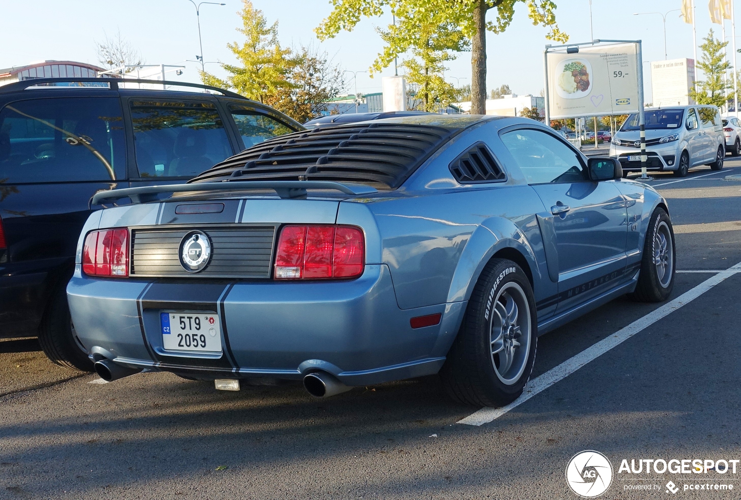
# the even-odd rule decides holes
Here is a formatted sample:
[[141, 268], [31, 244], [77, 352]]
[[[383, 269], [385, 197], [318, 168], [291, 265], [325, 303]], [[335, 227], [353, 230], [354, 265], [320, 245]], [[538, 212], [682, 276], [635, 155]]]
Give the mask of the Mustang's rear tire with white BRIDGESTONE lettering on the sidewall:
[[[518, 352], [522, 355], [520, 359], [525, 361], [524, 369], [514, 383], [504, 384], [494, 368], [493, 358], [496, 355], [492, 354], [492, 320], [488, 318], [494, 318], [492, 313], [495, 305], [492, 299], [508, 289], [524, 292], [522, 299], [526, 300], [529, 315], [523, 314], [523, 318], [518, 318], [518, 321], [524, 325], [525, 318], [529, 319], [529, 343], [525, 358], [523, 331], [519, 337], [523, 342], [520, 348], [522, 350]], [[525, 313], [522, 309], [519, 307], [520, 312]], [[533, 371], [537, 338], [535, 298], [527, 275], [511, 260], [491, 260], [471, 293], [458, 336], [440, 371], [445, 390], [451, 398], [462, 404], [499, 407], [511, 403], [522, 394]], [[499, 363], [501, 367], [501, 361]]]

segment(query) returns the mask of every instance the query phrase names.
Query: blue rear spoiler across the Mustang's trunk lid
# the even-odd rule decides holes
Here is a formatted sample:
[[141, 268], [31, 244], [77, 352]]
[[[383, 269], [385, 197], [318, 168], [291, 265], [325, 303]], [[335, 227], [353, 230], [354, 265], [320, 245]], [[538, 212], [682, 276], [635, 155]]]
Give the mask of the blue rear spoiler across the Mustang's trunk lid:
[[375, 194], [376, 188], [362, 184], [345, 184], [324, 180], [253, 180], [241, 182], [201, 182], [194, 184], [144, 185], [139, 188], [110, 189], [93, 196], [90, 205], [100, 205], [105, 201], [130, 198], [131, 203], [147, 203], [157, 200], [160, 193], [183, 193], [187, 191], [244, 191], [245, 189], [272, 189], [281, 198], [306, 196], [307, 189], [333, 189], [345, 194], [359, 196]]

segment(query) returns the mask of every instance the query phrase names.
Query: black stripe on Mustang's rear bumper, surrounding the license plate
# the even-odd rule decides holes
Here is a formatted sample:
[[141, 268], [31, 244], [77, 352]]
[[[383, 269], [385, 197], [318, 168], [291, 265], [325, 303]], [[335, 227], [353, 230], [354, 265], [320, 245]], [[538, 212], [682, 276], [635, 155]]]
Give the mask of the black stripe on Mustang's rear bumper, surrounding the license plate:
[[[197, 285], [176, 280], [156, 280], [144, 293], [144, 297], [140, 301], [141, 308], [142, 311], [145, 309], [183, 309], [209, 311], [218, 314], [219, 298], [222, 297], [228, 286], [230, 286], [230, 283], [221, 280], [213, 283], [199, 282]], [[139, 314], [139, 318], [141, 318], [141, 312]], [[143, 323], [142, 332], [144, 332]], [[159, 330], [152, 333], [158, 335]], [[234, 369], [229, 355], [222, 355], [220, 358], [182, 358], [181, 356], [162, 355], [154, 352], [153, 349], [150, 349], [150, 352], [158, 364], [193, 366], [203, 369], [214, 368], [230, 372]]]

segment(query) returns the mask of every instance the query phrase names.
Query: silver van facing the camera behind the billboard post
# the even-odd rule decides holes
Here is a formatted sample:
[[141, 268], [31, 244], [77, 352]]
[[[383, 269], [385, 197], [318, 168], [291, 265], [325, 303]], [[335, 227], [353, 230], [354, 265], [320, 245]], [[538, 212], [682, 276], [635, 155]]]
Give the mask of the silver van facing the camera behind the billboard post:
[[[628, 116], [610, 145], [610, 156], [624, 173], [640, 171], [638, 114]], [[725, 136], [715, 106], [677, 106], [645, 111], [646, 167], [650, 171], [673, 171], [685, 177], [690, 168], [710, 165], [723, 168]]]

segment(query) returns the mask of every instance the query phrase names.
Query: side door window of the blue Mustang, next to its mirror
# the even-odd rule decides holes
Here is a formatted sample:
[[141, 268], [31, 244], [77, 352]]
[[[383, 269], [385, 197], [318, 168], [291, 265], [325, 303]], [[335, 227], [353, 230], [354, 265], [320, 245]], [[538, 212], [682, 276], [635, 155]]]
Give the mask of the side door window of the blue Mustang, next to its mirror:
[[586, 180], [576, 151], [551, 134], [527, 128], [502, 134], [502, 142], [528, 184]]

